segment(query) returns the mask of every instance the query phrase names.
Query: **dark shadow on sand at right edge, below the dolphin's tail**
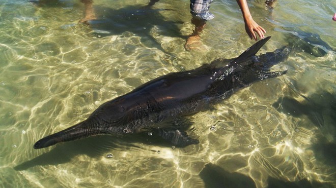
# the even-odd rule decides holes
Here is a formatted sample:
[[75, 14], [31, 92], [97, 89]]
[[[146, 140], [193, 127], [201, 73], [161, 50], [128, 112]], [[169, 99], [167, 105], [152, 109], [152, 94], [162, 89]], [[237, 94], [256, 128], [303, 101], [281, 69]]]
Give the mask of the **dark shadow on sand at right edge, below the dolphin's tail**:
[[308, 97], [303, 95], [301, 97], [300, 101], [290, 97], [279, 98], [273, 107], [293, 117], [305, 116], [318, 127], [321, 134], [316, 135], [317, 141], [309, 148], [314, 151], [317, 161], [331, 168], [336, 167], [336, 143], [334, 143], [336, 140], [336, 96], [322, 91]]

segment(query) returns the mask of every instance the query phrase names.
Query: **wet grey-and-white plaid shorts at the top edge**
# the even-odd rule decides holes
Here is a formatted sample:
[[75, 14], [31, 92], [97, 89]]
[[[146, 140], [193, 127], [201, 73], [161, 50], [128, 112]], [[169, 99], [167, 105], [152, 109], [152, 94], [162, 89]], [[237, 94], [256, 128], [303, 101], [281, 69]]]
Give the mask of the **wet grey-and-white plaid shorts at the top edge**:
[[213, 0], [190, 0], [190, 13], [193, 17], [203, 20], [211, 20], [215, 15], [209, 12]]

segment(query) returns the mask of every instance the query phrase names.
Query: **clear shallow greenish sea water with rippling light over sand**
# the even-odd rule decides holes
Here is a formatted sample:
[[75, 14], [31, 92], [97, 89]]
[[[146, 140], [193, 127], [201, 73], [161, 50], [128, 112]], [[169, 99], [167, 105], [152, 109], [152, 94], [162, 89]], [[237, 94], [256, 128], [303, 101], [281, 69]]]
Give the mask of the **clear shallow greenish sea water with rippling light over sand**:
[[[163, 74], [233, 58], [249, 40], [236, 1], [215, 1], [200, 50], [186, 51], [189, 2], [79, 1], [38, 6], [0, 0], [0, 187], [335, 187], [335, 1], [248, 1], [271, 40], [261, 53], [303, 41], [275, 69], [190, 117], [198, 145], [95, 136], [34, 149], [100, 104]], [[318, 35], [317, 35], [318, 34]], [[306, 38], [305, 38], [306, 37]], [[306, 41], [307, 37], [313, 41]], [[301, 39], [301, 40], [299, 40]], [[319, 53], [321, 50], [324, 53]]]

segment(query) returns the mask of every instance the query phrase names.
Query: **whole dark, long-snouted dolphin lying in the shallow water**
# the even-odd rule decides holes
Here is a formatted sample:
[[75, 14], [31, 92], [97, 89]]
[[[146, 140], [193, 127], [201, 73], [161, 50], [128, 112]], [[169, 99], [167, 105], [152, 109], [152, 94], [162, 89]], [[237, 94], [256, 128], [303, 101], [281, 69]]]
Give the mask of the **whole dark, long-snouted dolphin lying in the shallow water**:
[[130, 93], [107, 101], [90, 117], [70, 128], [44, 137], [34, 144], [43, 148], [59, 142], [100, 134], [127, 135], [150, 132], [175, 146], [198, 144], [176, 121], [207, 110], [250, 84], [281, 76], [273, 65], [288, 57], [289, 49], [256, 56], [270, 39], [260, 40], [235, 59], [217, 59], [193, 70], [172, 72], [149, 81]]

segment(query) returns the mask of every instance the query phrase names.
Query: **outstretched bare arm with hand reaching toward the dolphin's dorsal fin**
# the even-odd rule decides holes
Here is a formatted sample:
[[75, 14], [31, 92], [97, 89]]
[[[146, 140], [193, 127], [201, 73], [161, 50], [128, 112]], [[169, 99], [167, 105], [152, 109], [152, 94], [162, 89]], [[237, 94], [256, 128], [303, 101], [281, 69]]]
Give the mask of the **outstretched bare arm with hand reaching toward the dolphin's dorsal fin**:
[[237, 0], [237, 3], [243, 14], [244, 22], [245, 22], [245, 30], [247, 34], [249, 35], [249, 37], [257, 41], [257, 35], [255, 33], [257, 32], [259, 37], [261, 39], [264, 39], [265, 37], [264, 33], [266, 33], [266, 30], [262, 28], [260, 25], [258, 25], [258, 23], [256, 23], [253, 20], [251, 13], [249, 12], [246, 0]]

